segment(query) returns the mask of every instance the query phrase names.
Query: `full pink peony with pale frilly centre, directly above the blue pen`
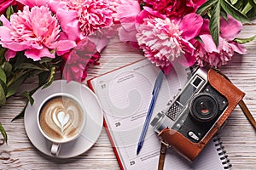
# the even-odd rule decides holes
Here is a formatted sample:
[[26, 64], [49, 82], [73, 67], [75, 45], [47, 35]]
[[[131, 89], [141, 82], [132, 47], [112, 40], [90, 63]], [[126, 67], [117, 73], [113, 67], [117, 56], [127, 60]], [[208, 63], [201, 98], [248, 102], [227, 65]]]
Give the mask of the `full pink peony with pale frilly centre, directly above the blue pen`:
[[[138, 45], [143, 48], [145, 57], [168, 74], [174, 59], [184, 56], [187, 63], [184, 61], [186, 59], [179, 59], [183, 65], [194, 64], [195, 48], [189, 40], [199, 34], [202, 23], [198, 14], [188, 14], [179, 24], [169, 18], [146, 18], [138, 27]], [[193, 27], [188, 27], [188, 24]]]

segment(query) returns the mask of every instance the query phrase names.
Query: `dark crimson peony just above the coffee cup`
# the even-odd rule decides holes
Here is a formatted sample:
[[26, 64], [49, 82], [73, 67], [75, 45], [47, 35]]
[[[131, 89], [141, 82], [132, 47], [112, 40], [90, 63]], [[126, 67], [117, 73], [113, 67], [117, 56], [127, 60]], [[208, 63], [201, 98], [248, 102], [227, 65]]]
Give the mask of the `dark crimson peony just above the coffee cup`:
[[63, 77], [70, 81], [83, 82], [87, 77], [87, 69], [90, 65], [99, 65], [101, 55], [96, 51], [96, 44], [84, 39], [73, 48], [71, 53], [64, 54], [65, 65], [62, 67]]

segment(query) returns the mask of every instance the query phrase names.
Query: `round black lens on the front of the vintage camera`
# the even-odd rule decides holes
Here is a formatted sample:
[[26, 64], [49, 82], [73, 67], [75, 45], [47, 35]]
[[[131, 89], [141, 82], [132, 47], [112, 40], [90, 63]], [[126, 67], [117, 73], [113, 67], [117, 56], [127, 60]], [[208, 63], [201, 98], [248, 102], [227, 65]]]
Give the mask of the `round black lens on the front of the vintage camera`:
[[211, 121], [218, 113], [218, 103], [211, 94], [197, 94], [191, 100], [190, 113], [199, 122]]

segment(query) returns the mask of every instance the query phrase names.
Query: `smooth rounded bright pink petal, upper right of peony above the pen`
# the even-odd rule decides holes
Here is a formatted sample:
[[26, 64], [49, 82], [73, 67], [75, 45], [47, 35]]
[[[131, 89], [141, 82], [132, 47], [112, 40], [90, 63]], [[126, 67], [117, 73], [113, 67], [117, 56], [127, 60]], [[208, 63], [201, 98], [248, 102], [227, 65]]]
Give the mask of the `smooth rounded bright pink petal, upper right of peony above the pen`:
[[189, 41], [190, 39], [198, 36], [202, 25], [203, 19], [201, 18], [201, 15], [192, 13], [184, 16], [179, 29], [183, 31], [182, 36], [184, 39]]

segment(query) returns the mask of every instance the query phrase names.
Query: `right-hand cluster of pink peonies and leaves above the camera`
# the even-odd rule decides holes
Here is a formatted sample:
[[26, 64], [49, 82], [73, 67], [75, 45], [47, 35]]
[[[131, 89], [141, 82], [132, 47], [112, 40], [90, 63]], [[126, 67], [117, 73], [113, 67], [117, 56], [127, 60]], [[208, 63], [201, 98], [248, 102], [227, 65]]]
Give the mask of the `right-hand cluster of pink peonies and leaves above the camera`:
[[[119, 6], [120, 40], [137, 42], [145, 57], [166, 74], [177, 59], [183, 65], [227, 64], [234, 53], [245, 54], [236, 36], [254, 17], [255, 3], [229, 0], [128, 0]], [[253, 3], [253, 4], [251, 4]], [[130, 10], [132, 8], [132, 10]], [[254, 14], [253, 14], [254, 13]], [[247, 15], [246, 15], [247, 14]], [[128, 35], [128, 36], [127, 36]]]

